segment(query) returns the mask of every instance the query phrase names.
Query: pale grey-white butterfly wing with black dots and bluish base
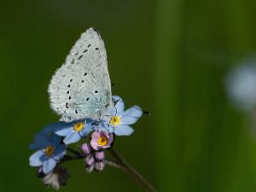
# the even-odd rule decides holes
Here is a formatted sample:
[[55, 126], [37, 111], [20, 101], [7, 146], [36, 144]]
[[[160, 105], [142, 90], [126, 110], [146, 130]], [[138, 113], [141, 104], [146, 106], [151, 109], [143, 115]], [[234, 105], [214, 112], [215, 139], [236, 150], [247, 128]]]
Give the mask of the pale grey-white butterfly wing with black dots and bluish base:
[[99, 119], [112, 103], [107, 53], [100, 35], [84, 32], [49, 84], [50, 107], [61, 120]]

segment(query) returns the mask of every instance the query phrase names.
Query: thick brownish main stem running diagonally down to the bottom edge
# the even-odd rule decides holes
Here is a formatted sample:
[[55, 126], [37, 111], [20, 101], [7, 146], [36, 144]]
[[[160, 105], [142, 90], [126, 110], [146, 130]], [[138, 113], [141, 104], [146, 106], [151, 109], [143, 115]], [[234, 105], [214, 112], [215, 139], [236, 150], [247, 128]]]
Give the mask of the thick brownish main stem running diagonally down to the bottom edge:
[[110, 149], [110, 153], [112, 154], [114, 160], [122, 167], [125, 172], [128, 172], [131, 177], [133, 177], [137, 183], [139, 183], [143, 189], [147, 192], [156, 192], [156, 189], [148, 183], [148, 181], [139, 174], [133, 167], [131, 167], [113, 148]]

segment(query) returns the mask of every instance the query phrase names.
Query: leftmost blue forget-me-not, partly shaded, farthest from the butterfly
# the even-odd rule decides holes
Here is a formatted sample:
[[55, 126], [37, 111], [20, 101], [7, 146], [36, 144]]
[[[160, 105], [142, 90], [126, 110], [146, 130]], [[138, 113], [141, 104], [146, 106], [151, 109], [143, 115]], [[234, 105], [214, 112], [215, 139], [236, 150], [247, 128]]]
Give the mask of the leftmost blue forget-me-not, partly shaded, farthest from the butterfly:
[[44, 131], [38, 133], [31, 146], [31, 148], [37, 148], [38, 151], [30, 156], [29, 164], [30, 166], [42, 166], [45, 174], [52, 172], [57, 161], [66, 154], [66, 146], [61, 143], [61, 137], [52, 131], [54, 125], [49, 125]]

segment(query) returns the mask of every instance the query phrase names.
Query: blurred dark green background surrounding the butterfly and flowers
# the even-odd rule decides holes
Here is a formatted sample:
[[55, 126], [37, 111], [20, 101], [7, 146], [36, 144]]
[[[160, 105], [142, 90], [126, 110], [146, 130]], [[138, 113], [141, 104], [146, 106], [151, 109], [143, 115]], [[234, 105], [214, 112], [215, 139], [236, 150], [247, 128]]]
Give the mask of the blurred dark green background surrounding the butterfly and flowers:
[[[101, 32], [113, 94], [151, 112], [117, 148], [160, 192], [253, 192], [256, 138], [224, 92], [226, 71], [256, 49], [250, 0], [1, 1], [0, 191], [46, 189], [28, 144], [57, 121], [49, 79], [80, 33]], [[129, 105], [129, 106], [128, 106]], [[142, 191], [124, 172], [67, 163], [61, 191]]]

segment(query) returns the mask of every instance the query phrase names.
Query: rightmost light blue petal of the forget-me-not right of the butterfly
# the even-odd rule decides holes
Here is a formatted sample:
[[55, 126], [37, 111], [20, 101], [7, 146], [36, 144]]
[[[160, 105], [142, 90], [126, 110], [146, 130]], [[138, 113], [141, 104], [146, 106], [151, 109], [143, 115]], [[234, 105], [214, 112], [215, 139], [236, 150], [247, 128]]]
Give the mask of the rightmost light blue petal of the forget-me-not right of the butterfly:
[[127, 109], [121, 117], [122, 124], [131, 125], [137, 122], [137, 120], [143, 115], [143, 110], [134, 106], [132, 108]]

